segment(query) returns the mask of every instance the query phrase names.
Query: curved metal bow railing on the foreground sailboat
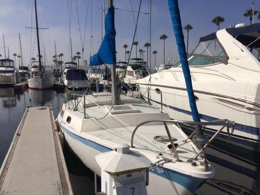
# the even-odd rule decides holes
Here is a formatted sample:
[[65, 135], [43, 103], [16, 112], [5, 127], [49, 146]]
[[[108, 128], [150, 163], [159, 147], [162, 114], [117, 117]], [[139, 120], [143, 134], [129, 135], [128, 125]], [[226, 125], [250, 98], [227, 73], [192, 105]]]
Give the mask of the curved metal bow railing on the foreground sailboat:
[[[178, 153], [177, 153], [177, 150], [176, 150], [176, 147], [178, 147], [178, 146], [174, 145], [174, 142], [173, 142], [171, 133], [169, 131], [169, 128], [167, 126], [167, 123], [171, 123], [171, 124], [175, 124], [175, 125], [179, 125], [179, 124], [200, 125], [203, 129], [205, 128], [205, 126], [209, 126], [209, 125], [210, 126], [221, 126], [221, 128], [207, 141], [207, 143], [190, 160], [196, 160], [201, 155], [201, 153], [208, 147], [208, 145], [218, 136], [218, 134], [225, 127], [226, 127], [228, 133], [229, 133], [229, 128], [231, 128], [230, 134], [232, 134], [233, 131], [234, 131], [234, 125], [235, 125], [235, 122], [229, 121], [229, 120], [226, 120], [226, 119], [225, 120], [215, 120], [215, 121], [212, 121], [212, 122], [193, 122], [193, 121], [161, 120], [161, 119], [148, 120], [148, 121], [144, 121], [144, 122], [138, 124], [136, 126], [136, 128], [134, 129], [134, 131], [132, 133], [132, 137], [131, 137], [131, 147], [132, 148], [135, 147], [134, 146], [134, 137], [135, 137], [135, 134], [136, 134], [138, 128], [143, 124], [152, 123], [152, 122], [162, 122], [164, 124], [165, 130], [167, 132], [168, 138], [169, 138], [171, 145], [173, 147], [173, 152], [174, 152], [174, 155], [175, 155], [177, 161], [179, 161], [179, 156], [178, 156]], [[188, 137], [188, 138], [190, 139], [191, 137]], [[197, 138], [197, 137], [193, 136], [193, 139], [194, 139], [194, 140], [192, 140], [193, 142], [195, 142], [195, 138]], [[199, 140], [199, 139], [197, 139], [197, 140]], [[187, 140], [186, 140], [186, 142], [187, 142]], [[203, 142], [205, 142], [205, 140]]]

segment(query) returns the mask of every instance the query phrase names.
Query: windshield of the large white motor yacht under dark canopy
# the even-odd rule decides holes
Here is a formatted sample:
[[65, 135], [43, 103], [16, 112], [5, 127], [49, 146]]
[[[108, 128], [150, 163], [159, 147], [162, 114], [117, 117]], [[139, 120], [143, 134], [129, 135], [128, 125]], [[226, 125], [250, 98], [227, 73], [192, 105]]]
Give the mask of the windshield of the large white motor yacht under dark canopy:
[[191, 56], [189, 66], [226, 63], [228, 59], [217, 39], [200, 42]]

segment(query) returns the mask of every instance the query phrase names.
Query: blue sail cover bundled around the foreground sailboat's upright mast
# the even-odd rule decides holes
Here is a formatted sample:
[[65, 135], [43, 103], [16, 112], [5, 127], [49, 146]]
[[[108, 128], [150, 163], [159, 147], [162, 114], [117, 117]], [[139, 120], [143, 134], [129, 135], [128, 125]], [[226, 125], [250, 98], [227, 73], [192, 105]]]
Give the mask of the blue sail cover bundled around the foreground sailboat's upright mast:
[[105, 16], [105, 35], [98, 53], [89, 58], [90, 66], [116, 64], [115, 8], [108, 8]]

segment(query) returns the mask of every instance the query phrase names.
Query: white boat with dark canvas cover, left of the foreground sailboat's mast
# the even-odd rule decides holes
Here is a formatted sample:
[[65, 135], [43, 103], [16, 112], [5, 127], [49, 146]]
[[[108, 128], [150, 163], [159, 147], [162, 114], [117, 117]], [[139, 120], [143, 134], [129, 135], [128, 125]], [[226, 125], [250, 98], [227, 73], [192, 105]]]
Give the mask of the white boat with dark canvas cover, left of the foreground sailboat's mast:
[[76, 63], [66, 62], [65, 70], [63, 72], [63, 83], [67, 88], [87, 88], [90, 84], [87, 79], [87, 74], [82, 69], [77, 69]]

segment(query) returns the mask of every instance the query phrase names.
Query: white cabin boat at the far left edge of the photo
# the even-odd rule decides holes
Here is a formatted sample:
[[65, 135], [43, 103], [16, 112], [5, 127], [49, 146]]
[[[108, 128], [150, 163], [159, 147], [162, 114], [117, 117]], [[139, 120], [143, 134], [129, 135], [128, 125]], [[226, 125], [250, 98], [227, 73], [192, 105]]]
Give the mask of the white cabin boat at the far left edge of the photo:
[[14, 85], [17, 83], [14, 60], [0, 59], [0, 85]]

